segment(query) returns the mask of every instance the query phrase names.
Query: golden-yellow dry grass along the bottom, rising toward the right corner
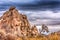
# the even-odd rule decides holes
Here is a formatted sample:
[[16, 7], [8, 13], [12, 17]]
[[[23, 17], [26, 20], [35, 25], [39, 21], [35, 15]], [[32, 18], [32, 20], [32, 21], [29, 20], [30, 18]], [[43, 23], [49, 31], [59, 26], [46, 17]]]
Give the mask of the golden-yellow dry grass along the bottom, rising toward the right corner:
[[[23, 40], [23, 38], [18, 38], [17, 40]], [[26, 38], [24, 40], [60, 40], [60, 35], [55, 33], [55, 34], [50, 34], [48, 36]]]

